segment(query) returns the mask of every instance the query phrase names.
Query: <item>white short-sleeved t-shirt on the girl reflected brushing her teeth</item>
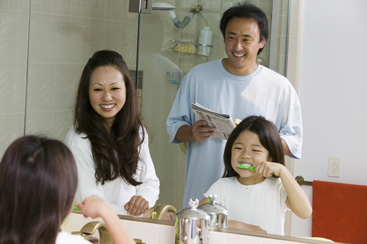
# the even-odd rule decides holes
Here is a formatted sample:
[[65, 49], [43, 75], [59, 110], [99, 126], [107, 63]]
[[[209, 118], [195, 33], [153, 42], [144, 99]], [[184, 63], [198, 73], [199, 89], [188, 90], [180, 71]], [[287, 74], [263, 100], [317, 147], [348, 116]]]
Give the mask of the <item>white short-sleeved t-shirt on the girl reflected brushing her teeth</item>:
[[228, 210], [228, 219], [256, 225], [268, 234], [284, 235], [287, 192], [280, 178], [269, 177], [244, 185], [237, 177], [221, 178], [206, 194], [217, 195], [216, 203]]

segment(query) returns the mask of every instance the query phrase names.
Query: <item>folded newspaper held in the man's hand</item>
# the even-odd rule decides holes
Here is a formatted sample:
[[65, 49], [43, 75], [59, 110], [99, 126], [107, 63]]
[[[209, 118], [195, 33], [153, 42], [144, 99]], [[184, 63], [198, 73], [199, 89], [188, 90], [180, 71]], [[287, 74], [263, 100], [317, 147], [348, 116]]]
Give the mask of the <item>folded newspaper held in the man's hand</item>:
[[199, 118], [206, 121], [208, 126], [215, 127], [213, 136], [227, 140], [236, 127], [231, 116], [214, 112], [198, 103], [191, 103], [191, 110]]

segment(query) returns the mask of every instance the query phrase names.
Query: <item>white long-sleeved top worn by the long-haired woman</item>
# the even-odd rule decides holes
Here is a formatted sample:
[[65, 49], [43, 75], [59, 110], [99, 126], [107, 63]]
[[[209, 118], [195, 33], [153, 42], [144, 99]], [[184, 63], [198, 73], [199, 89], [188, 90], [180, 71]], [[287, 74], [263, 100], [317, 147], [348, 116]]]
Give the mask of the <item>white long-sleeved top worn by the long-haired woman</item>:
[[133, 195], [140, 195], [149, 202], [149, 208], [153, 207], [159, 195], [159, 180], [156, 176], [154, 165], [149, 154], [148, 134], [144, 131], [144, 142], [140, 148], [140, 158], [134, 175], [134, 179], [142, 182], [133, 186], [127, 184], [121, 177], [105, 184], [96, 183], [96, 165], [93, 160], [92, 146], [85, 134], [78, 134], [72, 126], [64, 140], [64, 143], [72, 152], [78, 169], [78, 186], [75, 193], [75, 201], [82, 202], [87, 196], [97, 196], [108, 202], [117, 214], [126, 215], [124, 209], [126, 202]]

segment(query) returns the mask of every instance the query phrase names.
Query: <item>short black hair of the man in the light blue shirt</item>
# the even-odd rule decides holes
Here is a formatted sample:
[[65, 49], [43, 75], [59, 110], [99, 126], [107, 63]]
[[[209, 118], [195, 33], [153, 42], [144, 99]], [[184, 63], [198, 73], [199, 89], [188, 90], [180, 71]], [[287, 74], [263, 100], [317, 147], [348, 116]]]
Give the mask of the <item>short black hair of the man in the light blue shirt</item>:
[[[263, 40], [267, 40], [269, 37], [269, 27], [268, 27], [268, 19], [266, 17], [265, 12], [259, 8], [256, 5], [253, 5], [248, 2], [242, 2], [238, 3], [229, 9], [227, 9], [221, 18], [220, 21], [220, 30], [222, 32], [223, 38], [226, 38], [226, 27], [228, 24], [228, 21], [232, 18], [253, 18], [257, 25], [259, 26], [260, 30], [260, 40], [259, 42]], [[259, 49], [257, 52], [257, 55], [259, 55], [262, 51], [262, 48]]]

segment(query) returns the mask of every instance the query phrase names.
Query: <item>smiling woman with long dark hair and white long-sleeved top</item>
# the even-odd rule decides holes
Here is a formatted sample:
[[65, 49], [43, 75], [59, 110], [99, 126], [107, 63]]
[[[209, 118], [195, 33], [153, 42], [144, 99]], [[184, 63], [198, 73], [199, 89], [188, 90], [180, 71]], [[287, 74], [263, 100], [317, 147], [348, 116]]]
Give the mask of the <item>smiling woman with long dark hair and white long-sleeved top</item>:
[[95, 195], [118, 214], [137, 216], [154, 206], [159, 180], [136, 90], [117, 52], [96, 52], [85, 65], [64, 142], [78, 168], [77, 201]]

